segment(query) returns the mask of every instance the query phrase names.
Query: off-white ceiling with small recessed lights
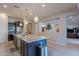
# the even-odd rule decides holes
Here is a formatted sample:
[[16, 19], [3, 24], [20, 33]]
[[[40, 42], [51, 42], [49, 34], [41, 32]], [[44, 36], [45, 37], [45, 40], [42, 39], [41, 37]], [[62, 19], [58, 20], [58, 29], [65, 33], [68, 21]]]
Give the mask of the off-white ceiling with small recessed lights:
[[[43, 19], [62, 11], [77, 8], [76, 3], [45, 3], [46, 6], [44, 8], [42, 4], [43, 3], [0, 3], [0, 13], [5, 13], [15, 18], [33, 20], [34, 16]], [[7, 5], [7, 8], [4, 8], [3, 5]], [[29, 15], [29, 13], [32, 13], [32, 15]]]

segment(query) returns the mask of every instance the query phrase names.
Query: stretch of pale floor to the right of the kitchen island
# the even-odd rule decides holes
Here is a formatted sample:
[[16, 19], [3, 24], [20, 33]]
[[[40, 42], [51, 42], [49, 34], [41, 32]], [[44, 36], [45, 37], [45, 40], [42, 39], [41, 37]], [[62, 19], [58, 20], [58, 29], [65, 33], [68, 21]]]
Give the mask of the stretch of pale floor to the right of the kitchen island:
[[48, 44], [49, 56], [79, 56], [79, 44], [59, 45], [55, 43]]

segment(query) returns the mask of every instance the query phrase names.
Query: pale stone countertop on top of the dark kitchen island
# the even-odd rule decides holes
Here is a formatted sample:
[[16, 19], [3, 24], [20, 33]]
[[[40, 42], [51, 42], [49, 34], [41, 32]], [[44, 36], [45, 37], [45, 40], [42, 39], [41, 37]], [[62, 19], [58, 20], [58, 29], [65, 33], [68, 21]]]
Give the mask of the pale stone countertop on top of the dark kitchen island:
[[17, 34], [16, 37], [21, 39], [21, 40], [24, 40], [26, 42], [33, 42], [33, 41], [37, 41], [37, 40], [46, 39], [44, 36], [38, 36], [38, 35], [26, 35], [26, 36], [23, 36], [21, 34]]

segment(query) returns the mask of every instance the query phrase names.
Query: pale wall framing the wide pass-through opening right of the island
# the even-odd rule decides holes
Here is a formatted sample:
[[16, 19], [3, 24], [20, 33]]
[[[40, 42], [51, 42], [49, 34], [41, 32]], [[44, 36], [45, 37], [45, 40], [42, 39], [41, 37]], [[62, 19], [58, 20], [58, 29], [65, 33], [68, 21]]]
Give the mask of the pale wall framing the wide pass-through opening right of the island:
[[[55, 17], [60, 18], [59, 19], [60, 20], [59, 21], [59, 23], [60, 23], [59, 33], [45, 32], [43, 35], [48, 34], [48, 36], [51, 37], [51, 40], [55, 40], [55, 41], [62, 42], [62, 43], [67, 43], [67, 38], [66, 38], [66, 16], [77, 14], [77, 13], [78, 13], [77, 10], [68, 10], [66, 12], [59, 13], [59, 14], [56, 14], [56, 15], [54, 15], [52, 17], [43, 19], [43, 20], [47, 21], [47, 20], [53, 20], [53, 18], [55, 18]], [[43, 21], [41, 21], [41, 23], [42, 22]]]

